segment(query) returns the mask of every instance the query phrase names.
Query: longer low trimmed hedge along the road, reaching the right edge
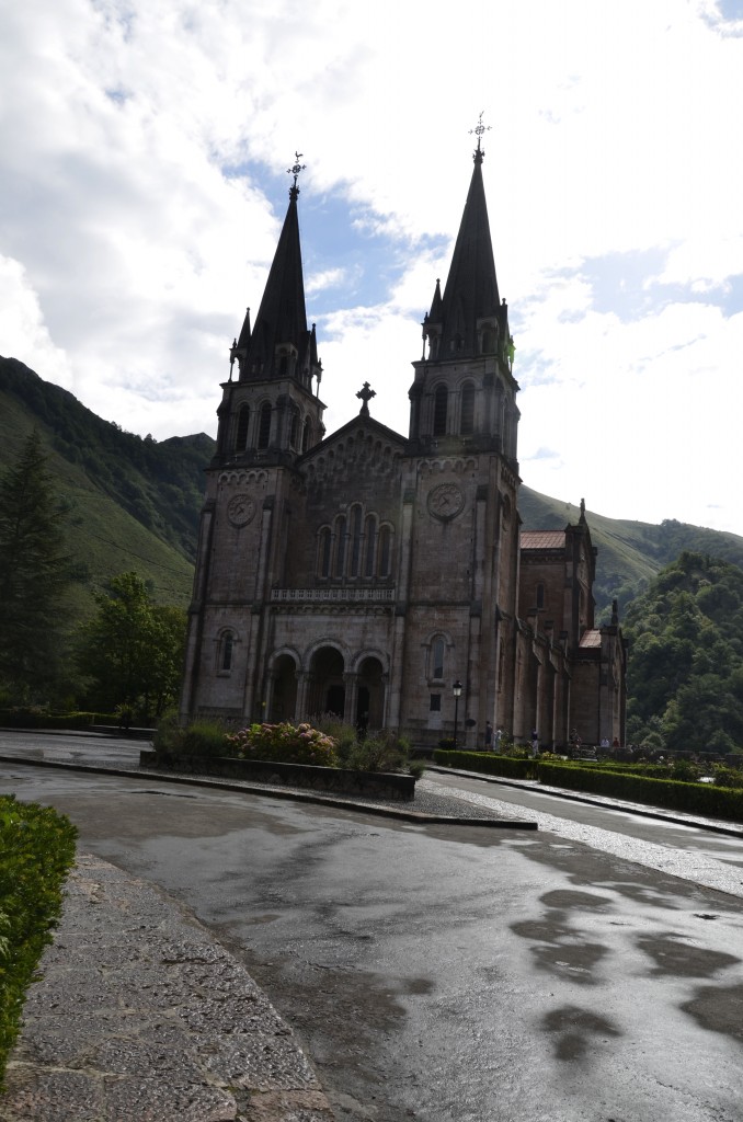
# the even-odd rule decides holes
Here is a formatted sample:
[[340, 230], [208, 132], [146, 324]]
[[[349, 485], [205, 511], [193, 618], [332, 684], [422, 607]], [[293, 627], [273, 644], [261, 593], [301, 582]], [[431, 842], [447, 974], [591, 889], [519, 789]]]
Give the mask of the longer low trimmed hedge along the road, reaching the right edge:
[[645, 779], [605, 769], [569, 763], [540, 763], [539, 779], [550, 787], [589, 791], [613, 799], [644, 802], [708, 818], [743, 821], [743, 790], [712, 783], [680, 783], [671, 779]]

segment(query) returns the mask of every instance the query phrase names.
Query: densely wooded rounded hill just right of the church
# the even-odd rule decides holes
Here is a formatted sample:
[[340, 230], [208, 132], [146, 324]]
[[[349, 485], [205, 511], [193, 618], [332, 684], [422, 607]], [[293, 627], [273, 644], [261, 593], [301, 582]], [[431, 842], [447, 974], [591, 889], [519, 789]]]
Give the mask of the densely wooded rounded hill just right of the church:
[[626, 616], [627, 735], [645, 747], [743, 744], [743, 569], [684, 552]]

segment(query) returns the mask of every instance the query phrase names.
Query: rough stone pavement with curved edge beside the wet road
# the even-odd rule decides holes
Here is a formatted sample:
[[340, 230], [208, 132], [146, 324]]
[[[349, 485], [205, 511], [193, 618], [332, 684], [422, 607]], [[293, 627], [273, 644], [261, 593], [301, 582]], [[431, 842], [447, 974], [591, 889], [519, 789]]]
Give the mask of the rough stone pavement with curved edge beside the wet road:
[[331, 1122], [240, 963], [143, 881], [82, 855], [24, 1010], [2, 1122]]

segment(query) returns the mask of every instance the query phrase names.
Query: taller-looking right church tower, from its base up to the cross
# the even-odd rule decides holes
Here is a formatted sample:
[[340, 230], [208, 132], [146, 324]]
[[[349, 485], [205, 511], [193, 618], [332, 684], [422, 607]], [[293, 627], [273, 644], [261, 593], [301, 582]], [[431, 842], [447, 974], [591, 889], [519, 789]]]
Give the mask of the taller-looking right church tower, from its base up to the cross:
[[[484, 729], [486, 720], [511, 727], [513, 719], [519, 386], [485, 200], [481, 118], [475, 132], [449, 276], [443, 293], [437, 282], [409, 394], [403, 524], [409, 503], [411, 564], [402, 574], [401, 690], [409, 699], [405, 726], [418, 725], [429, 738], [450, 728], [455, 681], [462, 683], [460, 712], [473, 727]], [[423, 665], [416, 647], [425, 653]], [[419, 705], [413, 717], [413, 697], [428, 701], [428, 714]]]

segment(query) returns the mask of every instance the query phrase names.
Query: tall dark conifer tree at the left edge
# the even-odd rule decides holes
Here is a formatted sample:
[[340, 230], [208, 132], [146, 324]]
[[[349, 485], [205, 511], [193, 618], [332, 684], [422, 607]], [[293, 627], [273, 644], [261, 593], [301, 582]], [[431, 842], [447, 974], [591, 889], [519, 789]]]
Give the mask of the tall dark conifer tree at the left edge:
[[71, 579], [64, 509], [36, 432], [0, 478], [0, 686], [13, 700], [48, 695], [64, 647]]

